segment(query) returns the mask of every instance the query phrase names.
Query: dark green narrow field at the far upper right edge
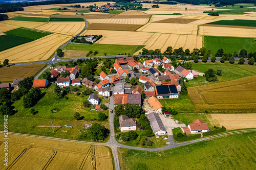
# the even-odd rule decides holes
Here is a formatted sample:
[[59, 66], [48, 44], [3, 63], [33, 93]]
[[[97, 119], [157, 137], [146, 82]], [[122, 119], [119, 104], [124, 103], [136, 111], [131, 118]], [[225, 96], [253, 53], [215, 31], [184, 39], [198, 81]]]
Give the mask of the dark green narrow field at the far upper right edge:
[[215, 22], [206, 23], [209, 25], [226, 25], [226, 26], [245, 26], [256, 27], [255, 20], [234, 19], [234, 20], [219, 20]]

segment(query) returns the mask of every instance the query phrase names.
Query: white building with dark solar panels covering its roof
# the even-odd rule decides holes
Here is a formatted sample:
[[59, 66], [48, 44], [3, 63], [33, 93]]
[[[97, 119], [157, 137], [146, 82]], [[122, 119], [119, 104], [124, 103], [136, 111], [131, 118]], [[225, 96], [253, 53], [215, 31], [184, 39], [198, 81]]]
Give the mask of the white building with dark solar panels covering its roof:
[[179, 98], [179, 91], [175, 84], [156, 85], [157, 99]]

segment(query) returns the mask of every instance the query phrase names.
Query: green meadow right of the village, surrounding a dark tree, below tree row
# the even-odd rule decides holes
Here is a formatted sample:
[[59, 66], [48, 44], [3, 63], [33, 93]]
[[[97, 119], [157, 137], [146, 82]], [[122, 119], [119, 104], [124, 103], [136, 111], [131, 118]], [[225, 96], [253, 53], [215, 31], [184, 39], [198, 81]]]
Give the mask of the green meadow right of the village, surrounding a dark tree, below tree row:
[[220, 63], [220, 62], [216, 62], [216, 63], [198, 62], [198, 63], [193, 63], [192, 68], [200, 72], [205, 72], [209, 68], [212, 68], [215, 71], [217, 71], [217, 69], [221, 69], [222, 76], [217, 76], [218, 77], [217, 82], [207, 82], [204, 77], [199, 76], [193, 80], [189, 80], [186, 83], [187, 87], [214, 84], [214, 83], [236, 80], [236, 79], [241, 79], [244, 77], [256, 75], [256, 66], [248, 65], [248, 64], [239, 65], [237, 63], [229, 64], [229, 63]]

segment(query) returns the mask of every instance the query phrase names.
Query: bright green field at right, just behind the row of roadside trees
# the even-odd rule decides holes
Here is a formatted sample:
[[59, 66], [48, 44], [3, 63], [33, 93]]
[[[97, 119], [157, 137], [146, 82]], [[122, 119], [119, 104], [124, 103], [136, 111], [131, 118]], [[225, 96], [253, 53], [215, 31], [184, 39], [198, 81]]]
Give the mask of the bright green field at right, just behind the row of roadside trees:
[[255, 52], [256, 41], [253, 38], [204, 36], [204, 46], [211, 51], [212, 55], [215, 55], [220, 48], [224, 53], [231, 54], [234, 52], [239, 54], [242, 49], [245, 49], [248, 54]]

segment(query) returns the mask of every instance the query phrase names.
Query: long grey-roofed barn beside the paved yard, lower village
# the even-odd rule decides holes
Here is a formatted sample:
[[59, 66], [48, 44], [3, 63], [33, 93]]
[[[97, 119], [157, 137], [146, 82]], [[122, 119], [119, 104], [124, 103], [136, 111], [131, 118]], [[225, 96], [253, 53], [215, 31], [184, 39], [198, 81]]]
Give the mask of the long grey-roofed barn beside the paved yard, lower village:
[[150, 124], [151, 124], [152, 130], [154, 133], [156, 133], [160, 130], [166, 132], [166, 129], [162, 123], [162, 120], [157, 113], [155, 113], [155, 112], [149, 113], [149, 114], [147, 114], [147, 118], [148, 118], [148, 120], [150, 120]]

